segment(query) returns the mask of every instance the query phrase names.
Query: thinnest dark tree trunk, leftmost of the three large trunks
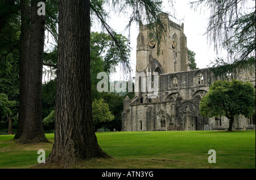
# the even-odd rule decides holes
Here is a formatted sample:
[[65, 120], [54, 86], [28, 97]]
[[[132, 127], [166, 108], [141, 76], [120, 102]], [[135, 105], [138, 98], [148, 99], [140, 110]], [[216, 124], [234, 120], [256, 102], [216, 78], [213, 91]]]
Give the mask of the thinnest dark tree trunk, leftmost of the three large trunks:
[[19, 56], [19, 117], [18, 128], [14, 139], [19, 139], [23, 133], [24, 121], [26, 119], [25, 110], [27, 107], [27, 67], [28, 50], [30, 47], [30, 1], [21, 0], [21, 30], [20, 30], [20, 56]]

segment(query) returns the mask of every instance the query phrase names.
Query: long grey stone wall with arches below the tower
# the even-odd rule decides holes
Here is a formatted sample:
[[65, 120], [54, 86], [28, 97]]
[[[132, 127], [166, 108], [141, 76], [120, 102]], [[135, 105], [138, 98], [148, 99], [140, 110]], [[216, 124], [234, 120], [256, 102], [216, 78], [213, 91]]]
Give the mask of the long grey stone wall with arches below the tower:
[[[230, 75], [230, 74], [228, 74]], [[209, 69], [192, 70], [159, 75], [158, 98], [147, 98], [151, 93], [139, 93], [124, 101], [122, 131], [166, 131], [168, 127], [179, 126], [183, 130], [226, 129], [229, 120], [222, 117], [204, 118], [199, 104], [216, 80], [240, 79], [250, 81], [255, 87], [255, 73], [231, 74], [215, 78]], [[240, 115], [234, 120], [234, 129], [255, 129], [253, 120]]]

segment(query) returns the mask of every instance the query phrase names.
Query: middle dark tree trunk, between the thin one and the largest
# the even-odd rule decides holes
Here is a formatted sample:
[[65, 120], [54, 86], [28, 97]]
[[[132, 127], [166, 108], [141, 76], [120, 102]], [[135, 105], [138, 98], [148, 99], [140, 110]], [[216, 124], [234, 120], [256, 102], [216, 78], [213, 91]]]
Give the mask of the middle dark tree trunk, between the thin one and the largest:
[[[24, 128], [18, 143], [48, 142], [42, 123], [42, 75], [45, 16], [38, 15], [38, 2], [31, 1], [30, 48], [26, 76]], [[45, 0], [43, 1], [45, 2]]]

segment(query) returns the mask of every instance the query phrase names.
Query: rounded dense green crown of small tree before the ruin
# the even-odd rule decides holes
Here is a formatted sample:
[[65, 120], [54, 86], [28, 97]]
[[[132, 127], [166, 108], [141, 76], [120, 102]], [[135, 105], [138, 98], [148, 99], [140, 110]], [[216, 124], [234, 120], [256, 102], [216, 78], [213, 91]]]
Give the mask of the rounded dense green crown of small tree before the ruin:
[[250, 82], [215, 81], [209, 92], [200, 102], [200, 113], [203, 116], [226, 116], [232, 118], [244, 115], [251, 118], [255, 115], [255, 89]]

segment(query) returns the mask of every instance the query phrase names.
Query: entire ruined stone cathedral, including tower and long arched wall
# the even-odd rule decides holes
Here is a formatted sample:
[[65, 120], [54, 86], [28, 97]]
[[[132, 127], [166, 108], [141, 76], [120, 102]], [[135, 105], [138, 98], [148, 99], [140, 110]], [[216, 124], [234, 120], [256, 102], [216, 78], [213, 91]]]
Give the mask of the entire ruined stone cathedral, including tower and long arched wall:
[[[216, 80], [240, 79], [255, 87], [255, 73], [229, 72], [216, 78], [210, 69], [188, 69], [187, 37], [184, 24], [172, 22], [168, 14], [160, 14], [168, 23], [168, 36], [162, 41], [162, 55], [157, 55], [154, 37], [148, 38], [146, 26], [140, 26], [137, 37], [136, 74], [158, 73], [158, 95], [150, 97], [152, 91], [141, 91], [142, 77], [138, 79], [139, 91], [135, 97], [125, 98], [122, 113], [122, 131], [200, 131], [227, 129], [229, 119], [225, 116], [208, 118], [200, 115], [199, 104]], [[236, 116], [233, 129], [255, 129], [255, 116], [247, 119]]]

